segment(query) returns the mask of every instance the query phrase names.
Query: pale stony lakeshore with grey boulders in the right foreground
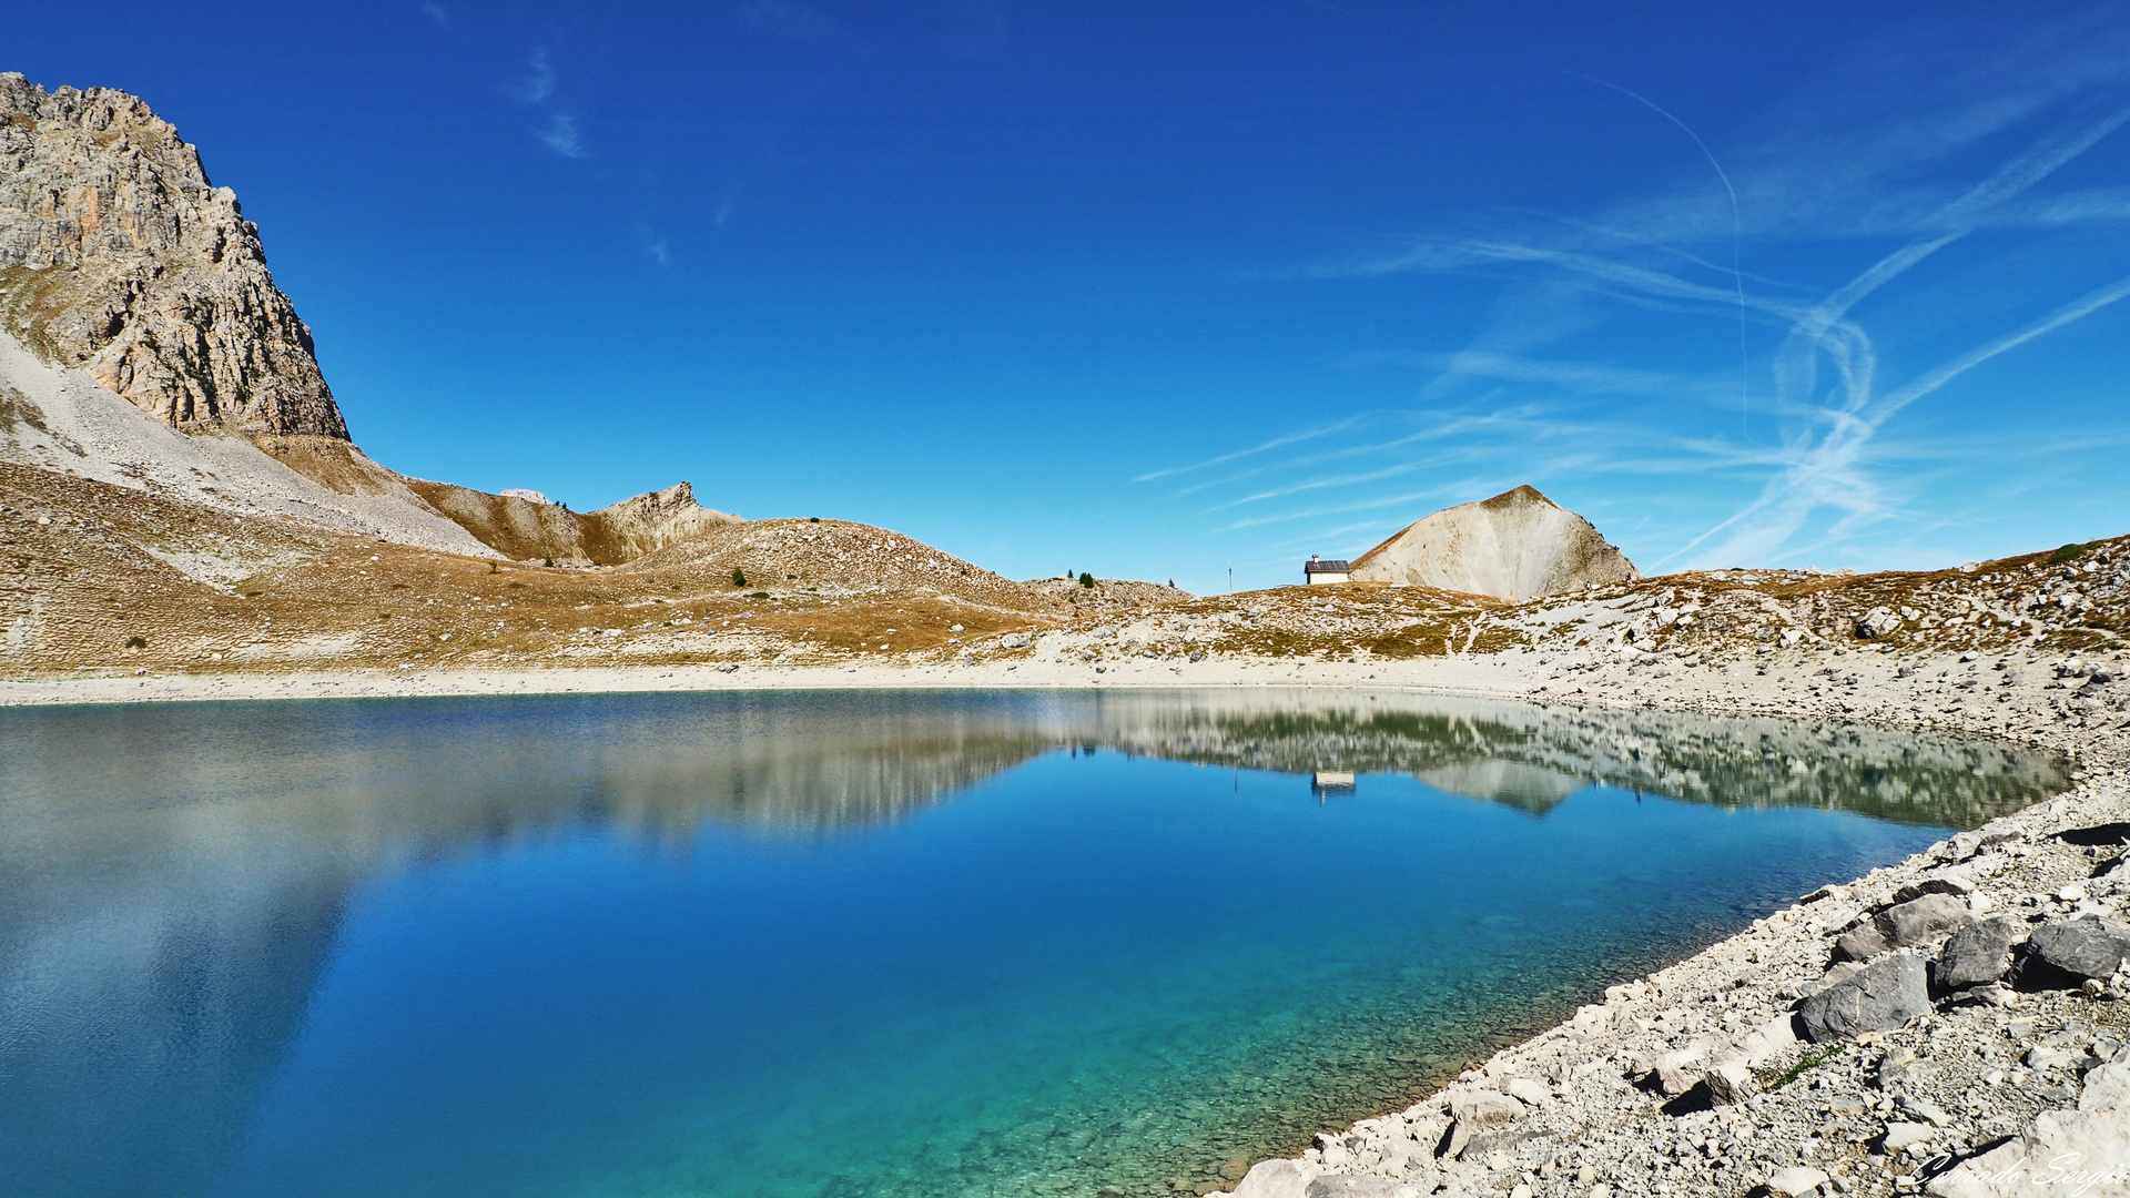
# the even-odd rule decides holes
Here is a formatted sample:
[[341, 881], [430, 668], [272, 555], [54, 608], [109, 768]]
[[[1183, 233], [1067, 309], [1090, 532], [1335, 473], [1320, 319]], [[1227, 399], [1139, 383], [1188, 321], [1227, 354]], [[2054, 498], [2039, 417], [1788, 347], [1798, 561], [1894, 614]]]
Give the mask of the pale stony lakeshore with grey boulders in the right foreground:
[[[1678, 691], [1593, 699], [1759, 708]], [[2072, 789], [1615, 985], [1406, 1111], [1259, 1162], [1235, 1194], [2130, 1194], [2124, 729], [2064, 703], [1983, 725], [1883, 691], [1828, 703], [2049, 744]]]

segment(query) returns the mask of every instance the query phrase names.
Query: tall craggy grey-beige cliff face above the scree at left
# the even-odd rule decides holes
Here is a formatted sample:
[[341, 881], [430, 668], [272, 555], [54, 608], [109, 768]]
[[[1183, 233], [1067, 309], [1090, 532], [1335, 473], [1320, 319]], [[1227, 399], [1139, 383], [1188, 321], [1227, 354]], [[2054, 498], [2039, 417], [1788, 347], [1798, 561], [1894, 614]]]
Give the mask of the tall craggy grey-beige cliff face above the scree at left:
[[0, 322], [187, 433], [347, 439], [258, 226], [126, 92], [0, 75]]

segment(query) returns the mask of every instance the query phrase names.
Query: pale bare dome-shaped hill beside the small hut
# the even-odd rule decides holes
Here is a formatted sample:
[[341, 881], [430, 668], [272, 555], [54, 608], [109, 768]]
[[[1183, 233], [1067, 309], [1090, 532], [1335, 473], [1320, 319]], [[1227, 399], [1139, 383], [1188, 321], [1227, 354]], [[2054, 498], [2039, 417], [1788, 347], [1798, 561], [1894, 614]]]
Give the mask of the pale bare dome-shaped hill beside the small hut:
[[1355, 582], [1406, 582], [1517, 601], [1632, 578], [1638, 573], [1627, 554], [1531, 486], [1436, 512], [1353, 563]]

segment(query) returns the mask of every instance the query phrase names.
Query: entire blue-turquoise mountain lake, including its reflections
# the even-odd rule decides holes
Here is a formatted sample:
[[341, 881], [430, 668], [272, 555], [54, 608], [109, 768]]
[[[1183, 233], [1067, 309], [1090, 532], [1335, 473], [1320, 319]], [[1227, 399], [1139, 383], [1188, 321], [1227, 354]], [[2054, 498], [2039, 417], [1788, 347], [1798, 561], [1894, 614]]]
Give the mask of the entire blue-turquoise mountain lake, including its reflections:
[[1402, 695], [0, 712], [0, 1194], [1167, 1196], [2064, 784]]

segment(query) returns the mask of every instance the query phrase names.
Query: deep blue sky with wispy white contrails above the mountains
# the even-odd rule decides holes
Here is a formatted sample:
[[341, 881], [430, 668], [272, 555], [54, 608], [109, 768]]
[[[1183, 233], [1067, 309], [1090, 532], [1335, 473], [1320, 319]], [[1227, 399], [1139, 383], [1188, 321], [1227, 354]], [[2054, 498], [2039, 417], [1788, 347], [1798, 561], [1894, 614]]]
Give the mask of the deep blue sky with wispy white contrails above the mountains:
[[2119, 4], [55, 4], [362, 448], [1016, 578], [1536, 484], [1644, 571], [2130, 531]]

